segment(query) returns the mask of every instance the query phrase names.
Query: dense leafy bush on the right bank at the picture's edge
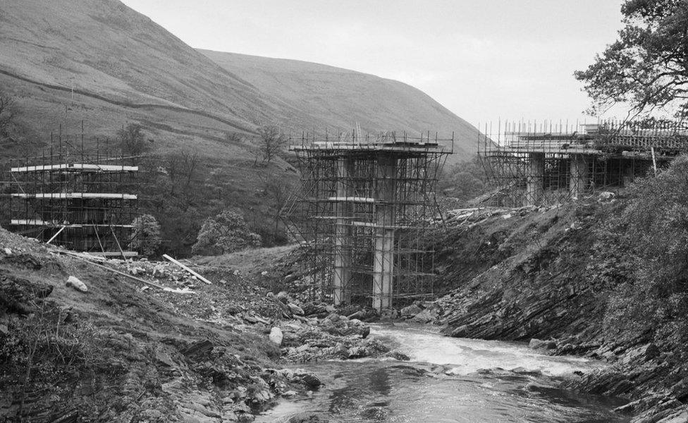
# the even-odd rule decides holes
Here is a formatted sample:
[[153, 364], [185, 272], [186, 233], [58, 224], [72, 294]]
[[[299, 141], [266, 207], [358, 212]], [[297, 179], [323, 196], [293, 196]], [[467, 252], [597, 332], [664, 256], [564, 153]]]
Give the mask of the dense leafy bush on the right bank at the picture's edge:
[[688, 336], [688, 157], [637, 181], [609, 229], [632, 271], [610, 287], [608, 323], [653, 333], [682, 328]]

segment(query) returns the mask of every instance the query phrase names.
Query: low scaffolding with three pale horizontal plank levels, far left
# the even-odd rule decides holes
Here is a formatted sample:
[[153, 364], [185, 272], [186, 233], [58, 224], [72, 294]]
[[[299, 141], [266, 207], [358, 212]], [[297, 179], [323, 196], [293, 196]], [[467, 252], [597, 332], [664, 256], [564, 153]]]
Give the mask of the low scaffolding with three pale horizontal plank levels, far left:
[[[10, 228], [92, 255], [133, 257], [138, 166], [108, 140], [51, 135], [42, 154], [10, 161]], [[93, 147], [95, 147], [93, 149]]]

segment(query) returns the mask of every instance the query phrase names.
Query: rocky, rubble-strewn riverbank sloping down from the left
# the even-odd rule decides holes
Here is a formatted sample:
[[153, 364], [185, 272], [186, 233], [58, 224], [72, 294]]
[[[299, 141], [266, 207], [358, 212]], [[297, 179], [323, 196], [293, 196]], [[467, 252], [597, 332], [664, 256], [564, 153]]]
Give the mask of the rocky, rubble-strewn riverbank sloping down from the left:
[[300, 362], [390, 353], [255, 274], [97, 264], [0, 228], [0, 420], [250, 422], [319, 388]]

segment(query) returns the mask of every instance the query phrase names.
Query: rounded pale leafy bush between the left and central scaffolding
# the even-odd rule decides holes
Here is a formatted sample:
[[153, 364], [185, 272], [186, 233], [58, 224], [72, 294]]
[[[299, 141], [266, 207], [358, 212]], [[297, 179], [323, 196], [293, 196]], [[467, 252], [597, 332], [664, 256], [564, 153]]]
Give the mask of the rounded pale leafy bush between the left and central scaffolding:
[[200, 255], [220, 255], [261, 244], [260, 235], [249, 231], [238, 210], [227, 209], [203, 222], [191, 251]]

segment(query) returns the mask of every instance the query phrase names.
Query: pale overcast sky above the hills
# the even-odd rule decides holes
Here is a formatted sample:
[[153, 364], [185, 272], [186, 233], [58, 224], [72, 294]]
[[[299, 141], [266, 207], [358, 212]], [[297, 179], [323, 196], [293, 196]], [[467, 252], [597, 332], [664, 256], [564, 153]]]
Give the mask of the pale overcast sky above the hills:
[[622, 0], [123, 1], [192, 47], [400, 80], [473, 124], [581, 117], [572, 73], [622, 26]]

